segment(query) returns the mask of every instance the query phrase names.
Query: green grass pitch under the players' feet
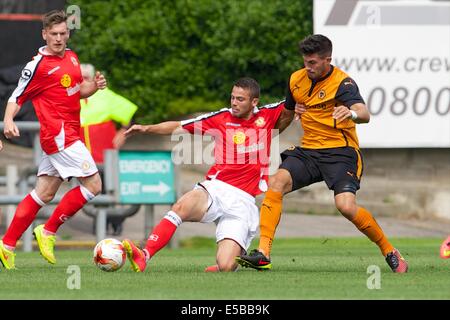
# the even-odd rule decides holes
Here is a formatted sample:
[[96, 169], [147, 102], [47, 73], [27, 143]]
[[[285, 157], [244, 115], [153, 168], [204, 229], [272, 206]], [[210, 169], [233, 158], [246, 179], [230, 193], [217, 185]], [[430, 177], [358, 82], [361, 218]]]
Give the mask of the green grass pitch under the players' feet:
[[[93, 265], [88, 250], [56, 250], [55, 266], [36, 252], [19, 251], [18, 269], [0, 271], [0, 299], [448, 300], [450, 259], [439, 257], [441, 241], [392, 239], [409, 262], [407, 274], [392, 273], [365, 238], [276, 239], [271, 271], [215, 274], [203, 272], [215, 260], [214, 240], [205, 238], [163, 249], [142, 274], [132, 272], [128, 262], [117, 272], [103, 272]], [[74, 265], [80, 270], [79, 289], [68, 288], [76, 284], [68, 268]], [[380, 268], [379, 289], [367, 287], [371, 265]]]

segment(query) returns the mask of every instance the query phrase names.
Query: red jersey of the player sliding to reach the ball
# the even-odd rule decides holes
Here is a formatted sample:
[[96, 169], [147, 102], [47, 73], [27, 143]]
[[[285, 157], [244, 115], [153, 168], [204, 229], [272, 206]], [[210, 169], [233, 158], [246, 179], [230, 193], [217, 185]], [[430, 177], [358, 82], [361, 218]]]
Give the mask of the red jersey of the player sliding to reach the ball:
[[232, 115], [231, 109], [182, 121], [193, 134], [214, 137], [215, 164], [206, 178], [218, 179], [252, 196], [266, 191], [273, 130], [284, 102], [255, 108], [249, 120]]

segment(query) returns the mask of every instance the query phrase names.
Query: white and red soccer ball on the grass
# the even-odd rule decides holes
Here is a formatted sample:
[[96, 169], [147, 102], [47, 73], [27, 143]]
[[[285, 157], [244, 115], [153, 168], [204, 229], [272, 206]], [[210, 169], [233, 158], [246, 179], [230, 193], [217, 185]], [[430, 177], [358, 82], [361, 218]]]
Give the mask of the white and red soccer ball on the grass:
[[94, 248], [94, 263], [100, 270], [117, 271], [125, 264], [125, 249], [117, 239], [103, 239]]

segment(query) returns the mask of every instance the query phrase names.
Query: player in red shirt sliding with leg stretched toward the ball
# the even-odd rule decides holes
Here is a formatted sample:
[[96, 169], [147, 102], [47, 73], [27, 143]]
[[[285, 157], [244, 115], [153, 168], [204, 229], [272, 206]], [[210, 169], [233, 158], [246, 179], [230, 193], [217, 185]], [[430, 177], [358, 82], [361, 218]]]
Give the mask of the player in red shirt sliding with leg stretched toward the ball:
[[212, 135], [215, 139], [215, 164], [205, 181], [183, 195], [153, 229], [145, 248], [128, 239], [123, 241], [132, 268], [145, 270], [148, 261], [172, 238], [184, 221], [215, 222], [217, 265], [205, 271], [233, 271], [235, 257], [245, 253], [259, 226], [255, 196], [266, 190], [272, 129], [284, 130], [294, 112], [284, 103], [257, 108], [259, 84], [251, 78], [236, 81], [231, 92], [231, 107], [186, 121], [155, 125], [133, 125], [130, 136], [182, 132]]

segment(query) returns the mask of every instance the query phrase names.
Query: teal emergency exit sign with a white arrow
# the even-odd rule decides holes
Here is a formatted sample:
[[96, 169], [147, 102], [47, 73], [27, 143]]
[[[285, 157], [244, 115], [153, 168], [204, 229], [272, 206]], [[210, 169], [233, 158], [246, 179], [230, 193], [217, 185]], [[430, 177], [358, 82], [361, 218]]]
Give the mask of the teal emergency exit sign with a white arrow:
[[121, 203], [175, 202], [175, 174], [170, 151], [119, 151]]

